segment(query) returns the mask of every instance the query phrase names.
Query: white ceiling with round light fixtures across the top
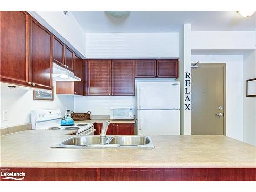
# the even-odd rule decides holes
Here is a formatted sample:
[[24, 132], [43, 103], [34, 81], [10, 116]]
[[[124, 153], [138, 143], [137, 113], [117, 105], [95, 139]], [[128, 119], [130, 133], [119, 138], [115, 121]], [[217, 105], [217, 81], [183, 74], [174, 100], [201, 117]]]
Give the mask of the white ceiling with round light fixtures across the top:
[[104, 11], [72, 11], [87, 33], [179, 32], [184, 23], [193, 31], [255, 31], [256, 13], [242, 17], [234, 11], [131, 11], [124, 18]]

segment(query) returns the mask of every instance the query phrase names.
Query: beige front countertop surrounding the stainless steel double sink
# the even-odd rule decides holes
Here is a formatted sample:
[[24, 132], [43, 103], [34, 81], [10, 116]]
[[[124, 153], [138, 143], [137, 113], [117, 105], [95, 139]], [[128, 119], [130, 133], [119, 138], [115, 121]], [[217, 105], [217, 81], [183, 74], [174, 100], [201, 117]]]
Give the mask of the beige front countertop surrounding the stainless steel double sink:
[[256, 168], [256, 147], [226, 136], [152, 135], [154, 149], [50, 148], [67, 130], [1, 136], [1, 167]]

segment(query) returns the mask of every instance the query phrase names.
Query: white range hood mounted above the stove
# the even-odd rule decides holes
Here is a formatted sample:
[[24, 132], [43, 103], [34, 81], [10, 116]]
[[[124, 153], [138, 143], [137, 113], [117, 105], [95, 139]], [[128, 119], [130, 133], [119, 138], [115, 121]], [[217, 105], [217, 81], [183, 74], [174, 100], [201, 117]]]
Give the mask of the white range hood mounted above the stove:
[[52, 77], [54, 81], [81, 81], [81, 79], [74, 75], [73, 72], [52, 63]]

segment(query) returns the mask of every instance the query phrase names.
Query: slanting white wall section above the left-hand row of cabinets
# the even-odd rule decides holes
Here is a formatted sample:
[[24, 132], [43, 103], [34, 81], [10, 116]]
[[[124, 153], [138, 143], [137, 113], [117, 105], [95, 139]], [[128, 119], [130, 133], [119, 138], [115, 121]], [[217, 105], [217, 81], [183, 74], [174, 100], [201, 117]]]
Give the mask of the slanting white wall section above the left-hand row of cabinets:
[[[67, 15], [64, 15], [63, 11], [36, 11], [29, 13], [38, 19], [39, 22], [43, 22], [42, 19], [44, 19], [45, 22], [65, 38], [77, 51], [83, 56], [86, 55], [86, 35], [70, 11]], [[46, 24], [44, 23], [44, 25]], [[48, 26], [46, 25], [46, 27]], [[52, 32], [54, 33], [54, 31]]]

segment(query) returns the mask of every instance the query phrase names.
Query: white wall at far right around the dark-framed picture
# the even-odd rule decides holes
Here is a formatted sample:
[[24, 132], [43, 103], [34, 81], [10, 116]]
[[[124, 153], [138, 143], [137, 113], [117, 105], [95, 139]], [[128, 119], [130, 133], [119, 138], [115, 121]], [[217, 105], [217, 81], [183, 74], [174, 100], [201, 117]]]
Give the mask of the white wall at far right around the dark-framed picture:
[[244, 55], [243, 140], [256, 146], [256, 97], [246, 97], [246, 80], [256, 78], [256, 51]]

